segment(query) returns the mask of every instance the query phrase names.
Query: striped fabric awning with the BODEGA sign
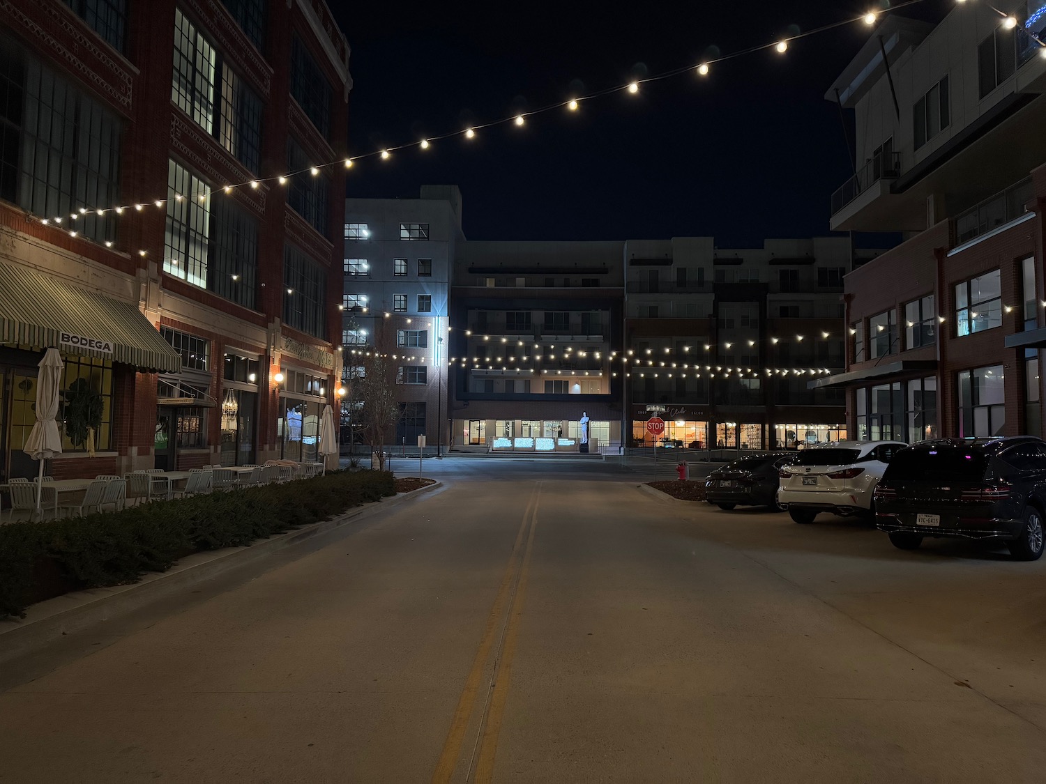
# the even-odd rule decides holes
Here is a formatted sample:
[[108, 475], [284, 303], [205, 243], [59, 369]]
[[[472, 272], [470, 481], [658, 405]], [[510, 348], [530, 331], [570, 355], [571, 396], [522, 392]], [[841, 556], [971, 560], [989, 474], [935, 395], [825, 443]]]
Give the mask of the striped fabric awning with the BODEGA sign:
[[177, 373], [181, 358], [130, 302], [0, 264], [0, 343], [54, 347]]

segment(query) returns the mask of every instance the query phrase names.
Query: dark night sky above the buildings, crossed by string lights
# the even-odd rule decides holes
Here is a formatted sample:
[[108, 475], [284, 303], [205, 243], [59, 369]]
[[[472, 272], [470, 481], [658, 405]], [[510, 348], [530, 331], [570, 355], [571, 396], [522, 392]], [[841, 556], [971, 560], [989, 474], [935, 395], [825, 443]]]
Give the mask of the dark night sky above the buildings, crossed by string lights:
[[[331, 2], [353, 47], [351, 154], [868, 9], [852, 0], [576, 5]], [[900, 13], [937, 21], [950, 7], [952, 0], [924, 0]], [[869, 34], [858, 22], [793, 42], [784, 55], [771, 49], [720, 63], [704, 78], [691, 71], [638, 95], [583, 102], [576, 113], [530, 117], [522, 129], [506, 123], [471, 141], [360, 161], [347, 194], [416, 199], [423, 184], [457, 184], [470, 239], [711, 235], [719, 247], [746, 247], [825, 235], [829, 199], [852, 174], [852, 153], [823, 95]]]

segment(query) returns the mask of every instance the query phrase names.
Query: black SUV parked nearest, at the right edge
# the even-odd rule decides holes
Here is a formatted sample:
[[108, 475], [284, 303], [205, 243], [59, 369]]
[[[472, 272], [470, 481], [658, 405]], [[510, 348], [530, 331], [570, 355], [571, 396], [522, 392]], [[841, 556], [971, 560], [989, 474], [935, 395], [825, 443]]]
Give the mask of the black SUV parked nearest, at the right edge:
[[938, 439], [893, 456], [876, 488], [876, 526], [903, 550], [926, 536], [1004, 539], [1021, 560], [1043, 553], [1046, 441]]

